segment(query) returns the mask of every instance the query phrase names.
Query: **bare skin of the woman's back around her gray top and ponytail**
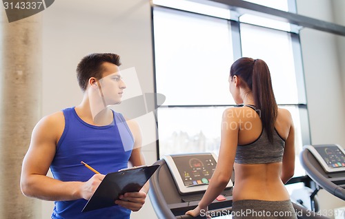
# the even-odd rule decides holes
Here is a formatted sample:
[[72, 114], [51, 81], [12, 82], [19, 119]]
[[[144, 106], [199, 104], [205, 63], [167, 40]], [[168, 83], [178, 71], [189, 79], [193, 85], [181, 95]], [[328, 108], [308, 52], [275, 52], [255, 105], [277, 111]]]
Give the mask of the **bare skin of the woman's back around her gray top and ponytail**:
[[[246, 147], [262, 134], [260, 112], [250, 107], [239, 109], [237, 116], [243, 124], [239, 129], [238, 146]], [[275, 129], [284, 140], [288, 138], [290, 114], [287, 110], [279, 109]], [[250, 127], [250, 128], [249, 128]], [[262, 164], [234, 164], [235, 187], [233, 200], [288, 200], [289, 195], [282, 182], [282, 162]]]

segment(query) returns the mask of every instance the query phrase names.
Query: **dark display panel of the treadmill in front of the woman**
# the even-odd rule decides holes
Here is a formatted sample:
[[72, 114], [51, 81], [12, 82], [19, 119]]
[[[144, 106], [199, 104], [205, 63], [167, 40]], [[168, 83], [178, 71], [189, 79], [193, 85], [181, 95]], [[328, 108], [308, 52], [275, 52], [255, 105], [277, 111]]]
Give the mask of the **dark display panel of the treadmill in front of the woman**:
[[213, 156], [177, 156], [172, 159], [186, 187], [210, 183], [216, 166]]

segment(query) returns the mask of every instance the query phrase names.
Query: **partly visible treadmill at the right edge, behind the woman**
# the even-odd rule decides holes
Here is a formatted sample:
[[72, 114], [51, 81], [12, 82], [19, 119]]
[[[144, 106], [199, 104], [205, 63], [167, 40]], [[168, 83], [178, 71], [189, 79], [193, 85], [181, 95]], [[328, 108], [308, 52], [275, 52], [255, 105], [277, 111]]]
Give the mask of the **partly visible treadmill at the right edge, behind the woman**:
[[[299, 158], [306, 174], [319, 187], [345, 200], [345, 151], [340, 145], [306, 145]], [[312, 204], [319, 189], [311, 195]]]

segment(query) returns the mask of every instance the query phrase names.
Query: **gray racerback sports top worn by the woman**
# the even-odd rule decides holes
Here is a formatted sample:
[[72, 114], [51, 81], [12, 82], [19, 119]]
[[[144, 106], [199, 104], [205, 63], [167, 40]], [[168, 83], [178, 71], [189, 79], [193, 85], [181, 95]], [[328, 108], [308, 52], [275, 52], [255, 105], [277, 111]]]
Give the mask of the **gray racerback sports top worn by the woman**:
[[[253, 108], [252, 106], [247, 105]], [[247, 145], [237, 145], [235, 163], [262, 164], [279, 163], [283, 160], [285, 140], [279, 136], [277, 130], [273, 132], [273, 143], [270, 143], [266, 131], [262, 129], [259, 138]]]

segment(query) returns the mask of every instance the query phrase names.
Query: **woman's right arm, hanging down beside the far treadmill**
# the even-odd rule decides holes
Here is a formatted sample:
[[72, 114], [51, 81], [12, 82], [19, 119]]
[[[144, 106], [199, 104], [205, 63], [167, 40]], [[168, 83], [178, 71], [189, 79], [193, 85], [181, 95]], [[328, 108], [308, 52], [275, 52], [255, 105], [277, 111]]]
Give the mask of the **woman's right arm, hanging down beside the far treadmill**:
[[295, 128], [290, 112], [286, 110], [286, 118], [290, 123], [288, 138], [285, 141], [285, 149], [282, 164], [282, 182], [285, 184], [293, 177], [295, 172]]

